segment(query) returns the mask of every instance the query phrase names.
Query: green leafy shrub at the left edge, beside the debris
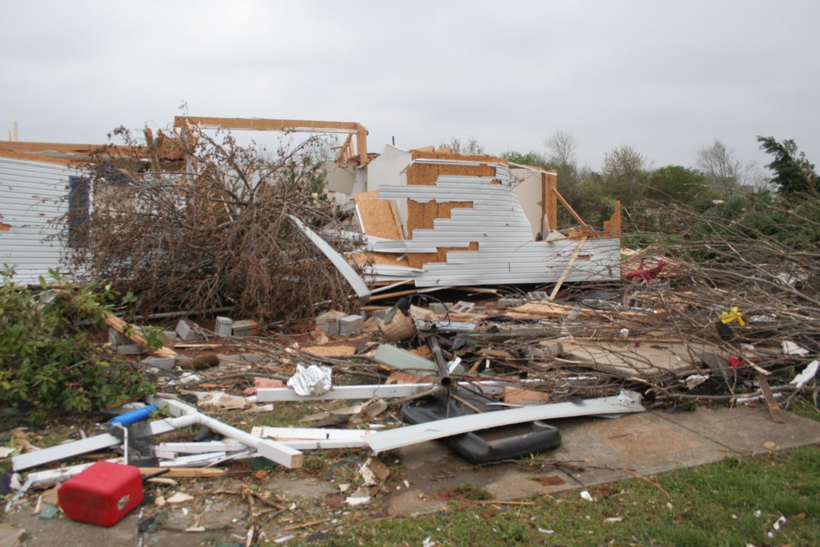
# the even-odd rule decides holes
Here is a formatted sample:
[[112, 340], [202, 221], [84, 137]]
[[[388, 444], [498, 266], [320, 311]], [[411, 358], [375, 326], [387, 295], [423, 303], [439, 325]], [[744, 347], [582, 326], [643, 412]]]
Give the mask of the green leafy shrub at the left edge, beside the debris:
[[0, 401], [30, 405], [36, 418], [50, 409], [88, 413], [153, 392], [130, 363], [77, 326], [83, 319], [104, 326], [104, 303], [117, 297], [110, 286], [48, 290], [41, 277], [42, 289], [21, 289], [13, 275], [11, 267], [0, 270]]

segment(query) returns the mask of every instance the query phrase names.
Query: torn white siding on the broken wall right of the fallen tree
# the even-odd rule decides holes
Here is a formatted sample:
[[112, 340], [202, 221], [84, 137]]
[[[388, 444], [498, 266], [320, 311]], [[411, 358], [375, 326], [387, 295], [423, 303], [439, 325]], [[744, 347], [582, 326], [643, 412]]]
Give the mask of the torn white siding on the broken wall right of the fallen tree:
[[[435, 253], [441, 247], [466, 249], [473, 241], [478, 250], [449, 251], [446, 262], [427, 262], [421, 270], [375, 264], [369, 271], [376, 280], [412, 279], [417, 287], [549, 283], [563, 275], [581, 244], [534, 240], [506, 167], [496, 167], [495, 176], [439, 175], [435, 185], [382, 186], [379, 197], [397, 203], [471, 201], [472, 207], [454, 208], [449, 218], [436, 218], [432, 229], [413, 230], [413, 239], [368, 238], [373, 251]], [[589, 239], [565, 280], [618, 279], [620, 263], [619, 239]]]

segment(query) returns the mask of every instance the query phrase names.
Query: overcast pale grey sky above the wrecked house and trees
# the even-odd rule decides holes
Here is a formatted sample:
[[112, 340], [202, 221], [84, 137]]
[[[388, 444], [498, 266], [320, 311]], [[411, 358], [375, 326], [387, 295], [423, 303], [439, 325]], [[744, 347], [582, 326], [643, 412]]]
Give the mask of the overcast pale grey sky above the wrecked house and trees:
[[[0, 138], [103, 143], [192, 116], [359, 121], [371, 152], [576, 135], [693, 165], [756, 134], [820, 164], [820, 2], [3, 2]], [[273, 142], [271, 134], [259, 140]]]

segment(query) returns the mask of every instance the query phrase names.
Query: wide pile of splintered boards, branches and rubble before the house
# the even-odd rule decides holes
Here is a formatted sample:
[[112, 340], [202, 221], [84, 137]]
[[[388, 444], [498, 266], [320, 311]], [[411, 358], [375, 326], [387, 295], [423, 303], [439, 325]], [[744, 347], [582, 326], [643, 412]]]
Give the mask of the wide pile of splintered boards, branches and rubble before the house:
[[[139, 328], [126, 330], [111, 316], [109, 343], [136, 353], [131, 358], [155, 378], [159, 393], [122, 408], [100, 435], [13, 456], [13, 468], [26, 472], [116, 449], [121, 456], [109, 461], [144, 473], [213, 476], [237, 459], [296, 468], [305, 451], [362, 449], [375, 457], [427, 440], [490, 463], [557, 446], [560, 432], [549, 424], [555, 419], [640, 412], [644, 404], [764, 399], [778, 421], [777, 398], [794, 397], [818, 369], [809, 357], [817, 348], [805, 340], [750, 344], [768, 317], [745, 317], [716, 304], [716, 294], [663, 285], [570, 292], [561, 302], [540, 291], [491, 299], [484, 291], [473, 294], [484, 299], [455, 303], [420, 294], [393, 306], [362, 306], [358, 315], [330, 310], [313, 330], [289, 336], [265, 335], [253, 321], [230, 317], [216, 317], [213, 330], [181, 320], [156, 350], [145, 346]], [[139, 355], [149, 351], [156, 355]], [[787, 367], [799, 368], [794, 380], [769, 385], [767, 377]], [[315, 427], [249, 432], [207, 414], [276, 415], [279, 405], [298, 401], [352, 404], [302, 417]], [[391, 406], [400, 418], [385, 412]], [[157, 410], [171, 417], [144, 422]], [[196, 440], [154, 442], [188, 426], [202, 428]], [[18, 496], [88, 467], [29, 472]], [[362, 503], [368, 492], [348, 503]]]

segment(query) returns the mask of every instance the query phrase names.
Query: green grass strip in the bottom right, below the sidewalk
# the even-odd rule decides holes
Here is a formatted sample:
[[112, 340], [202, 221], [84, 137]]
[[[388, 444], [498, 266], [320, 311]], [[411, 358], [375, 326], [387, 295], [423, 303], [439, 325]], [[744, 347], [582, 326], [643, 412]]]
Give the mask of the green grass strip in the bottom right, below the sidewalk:
[[[450, 501], [439, 513], [346, 527], [330, 545], [820, 545], [820, 447], [727, 458], [655, 480], [533, 499], [535, 505]], [[608, 492], [607, 492], [608, 490]], [[756, 512], [760, 516], [756, 516]], [[788, 519], [769, 537], [772, 524]], [[620, 522], [606, 519], [621, 518]], [[550, 532], [551, 531], [551, 532]]]

